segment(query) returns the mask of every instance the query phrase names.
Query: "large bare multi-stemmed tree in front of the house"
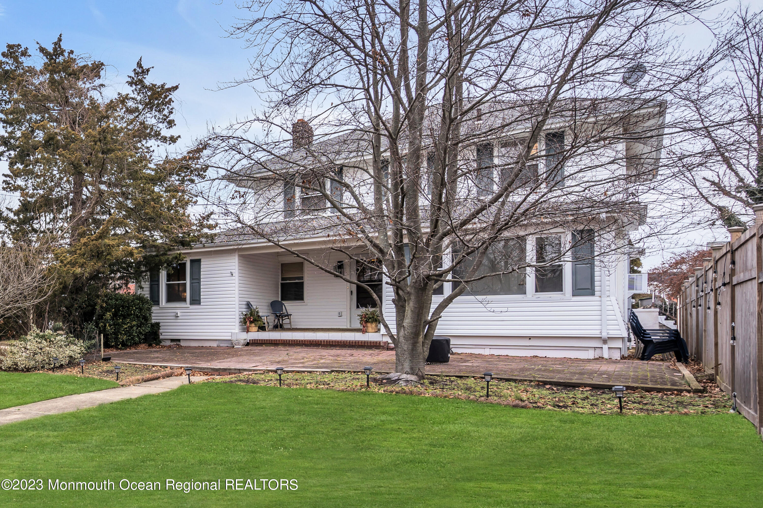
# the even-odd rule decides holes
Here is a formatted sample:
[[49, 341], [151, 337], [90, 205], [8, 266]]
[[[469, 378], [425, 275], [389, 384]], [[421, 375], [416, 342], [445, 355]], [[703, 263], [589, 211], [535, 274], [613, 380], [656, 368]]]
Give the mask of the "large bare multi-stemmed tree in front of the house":
[[[246, 2], [231, 34], [256, 53], [237, 84], [268, 106], [204, 139], [223, 174], [205, 197], [237, 226], [224, 238], [269, 241], [380, 306], [298, 244], [383, 273], [396, 370], [423, 375], [460, 295], [626, 246], [639, 193], [659, 182], [666, 100], [716, 58], [678, 53], [668, 34], [707, 5]], [[543, 239], [559, 228], [571, 241]]]

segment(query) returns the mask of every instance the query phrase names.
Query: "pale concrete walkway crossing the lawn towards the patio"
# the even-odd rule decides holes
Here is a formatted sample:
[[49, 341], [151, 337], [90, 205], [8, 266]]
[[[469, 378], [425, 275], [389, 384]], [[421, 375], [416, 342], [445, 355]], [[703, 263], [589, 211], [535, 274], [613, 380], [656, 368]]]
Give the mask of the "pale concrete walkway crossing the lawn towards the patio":
[[[192, 376], [191, 379], [192, 381], [200, 381], [207, 378]], [[139, 385], [66, 395], [66, 397], [32, 402], [24, 406], [8, 407], [0, 409], [0, 425], [42, 417], [46, 414], [69, 413], [69, 411], [77, 411], [85, 407], [95, 407], [101, 404], [108, 404], [109, 402], [124, 401], [127, 398], [136, 398], [142, 395], [162, 393], [178, 388], [180, 385], [188, 385], [187, 376], [156, 379], [156, 381], [146, 381]]]

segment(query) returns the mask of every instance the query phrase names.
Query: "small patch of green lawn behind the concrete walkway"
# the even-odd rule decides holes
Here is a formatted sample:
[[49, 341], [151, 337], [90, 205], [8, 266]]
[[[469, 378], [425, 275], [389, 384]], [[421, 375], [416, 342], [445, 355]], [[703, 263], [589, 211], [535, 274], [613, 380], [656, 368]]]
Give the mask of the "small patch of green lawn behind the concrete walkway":
[[105, 379], [44, 372], [0, 372], [0, 409], [119, 386]]

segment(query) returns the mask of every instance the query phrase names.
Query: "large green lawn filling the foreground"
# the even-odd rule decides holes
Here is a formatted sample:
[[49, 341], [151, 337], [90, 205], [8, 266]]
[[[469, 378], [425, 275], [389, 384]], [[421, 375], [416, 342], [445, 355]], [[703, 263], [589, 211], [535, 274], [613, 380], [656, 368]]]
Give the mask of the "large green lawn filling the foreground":
[[[0, 506], [760, 506], [763, 444], [731, 414], [593, 415], [201, 383], [0, 427]], [[47, 490], [111, 479], [115, 490]], [[158, 491], [119, 490], [121, 479]], [[166, 490], [166, 479], [298, 490]]]

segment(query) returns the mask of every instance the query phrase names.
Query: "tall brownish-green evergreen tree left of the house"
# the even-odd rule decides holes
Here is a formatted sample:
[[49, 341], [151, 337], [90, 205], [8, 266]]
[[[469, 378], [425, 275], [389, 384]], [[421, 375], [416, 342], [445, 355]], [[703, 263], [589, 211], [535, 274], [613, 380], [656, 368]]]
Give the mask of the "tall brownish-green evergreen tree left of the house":
[[65, 50], [8, 44], [0, 53], [0, 158], [3, 189], [18, 205], [0, 215], [14, 242], [55, 238], [54, 304], [73, 321], [92, 314], [97, 293], [166, 266], [172, 248], [198, 241], [208, 224], [194, 216], [189, 189], [204, 170], [195, 155], [167, 155], [179, 136], [172, 94], [148, 81], [141, 59], [127, 91], [112, 94], [103, 62]]

